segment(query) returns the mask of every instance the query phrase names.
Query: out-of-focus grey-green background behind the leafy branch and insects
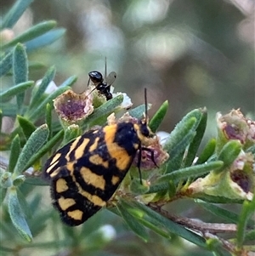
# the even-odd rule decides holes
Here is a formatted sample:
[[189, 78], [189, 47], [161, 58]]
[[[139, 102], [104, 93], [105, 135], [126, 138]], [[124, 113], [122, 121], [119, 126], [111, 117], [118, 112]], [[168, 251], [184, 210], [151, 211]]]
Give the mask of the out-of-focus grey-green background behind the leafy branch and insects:
[[[1, 1], [2, 13], [13, 3]], [[252, 0], [35, 0], [14, 27], [14, 33], [18, 35], [42, 20], [56, 20], [66, 33], [50, 47], [29, 53], [29, 60], [45, 65], [33, 72], [30, 80], [40, 79], [48, 66], [55, 65], [56, 84], [77, 75], [74, 90], [81, 93], [87, 87], [89, 71], [104, 73], [106, 56], [108, 71], [117, 73], [116, 92], [126, 92], [133, 105], [144, 103], [144, 87], [153, 104], [150, 113], [169, 100], [161, 130], [170, 132], [185, 113], [201, 106], [206, 106], [209, 113], [207, 136], [216, 134], [214, 120], [218, 111], [240, 107], [243, 113], [254, 117]], [[42, 207], [51, 208], [48, 187], [40, 193], [47, 193]], [[169, 210], [185, 217], [203, 216], [205, 221], [217, 221], [208, 219], [201, 208], [189, 206], [189, 201], [175, 202]], [[41, 214], [45, 211], [42, 207]], [[53, 227], [61, 225], [58, 213], [54, 214], [57, 224], [49, 223]], [[98, 227], [107, 223], [112, 226], [106, 233], [111, 234], [114, 226], [117, 236], [113, 234], [114, 240], [104, 251], [89, 253], [94, 248], [87, 248], [86, 255], [212, 255], [178, 237], [169, 243], [151, 234], [151, 242], [145, 244], [106, 210], [82, 225], [83, 234], [87, 234], [84, 247], [97, 237], [92, 236], [93, 231], [98, 232]], [[77, 230], [63, 229], [65, 236], [79, 236]], [[54, 239], [48, 237], [47, 230], [36, 242], [40, 237]], [[75, 255], [62, 250], [61, 245], [59, 253], [36, 251], [37, 255]], [[35, 251], [28, 249], [24, 253], [33, 255]]]

